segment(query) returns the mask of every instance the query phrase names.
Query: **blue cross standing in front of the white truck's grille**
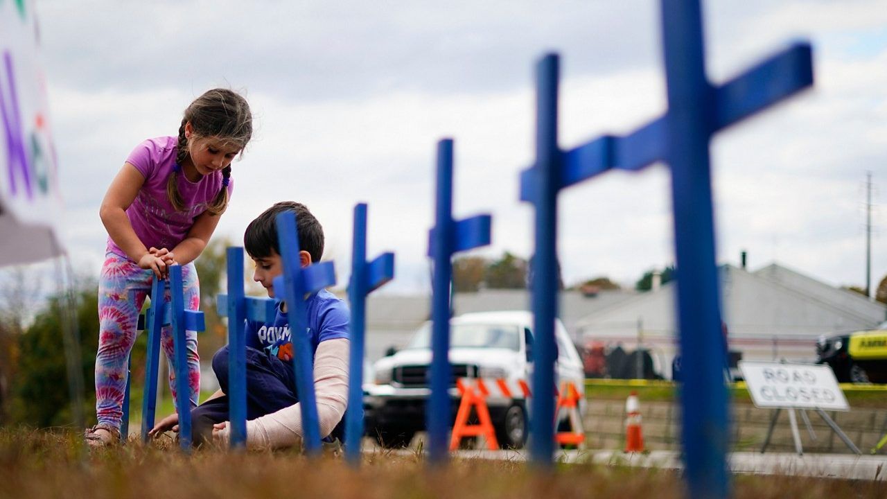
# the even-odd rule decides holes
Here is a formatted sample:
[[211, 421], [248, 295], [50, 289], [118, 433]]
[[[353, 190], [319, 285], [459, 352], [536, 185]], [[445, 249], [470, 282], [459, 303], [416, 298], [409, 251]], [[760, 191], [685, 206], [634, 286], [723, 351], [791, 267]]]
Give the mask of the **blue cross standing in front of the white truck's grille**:
[[452, 254], [490, 244], [490, 215], [452, 218], [452, 139], [437, 143], [436, 225], [428, 233], [428, 256], [434, 262], [431, 301], [431, 396], [425, 416], [428, 454], [434, 463], [447, 458], [452, 383], [450, 366], [450, 297]]

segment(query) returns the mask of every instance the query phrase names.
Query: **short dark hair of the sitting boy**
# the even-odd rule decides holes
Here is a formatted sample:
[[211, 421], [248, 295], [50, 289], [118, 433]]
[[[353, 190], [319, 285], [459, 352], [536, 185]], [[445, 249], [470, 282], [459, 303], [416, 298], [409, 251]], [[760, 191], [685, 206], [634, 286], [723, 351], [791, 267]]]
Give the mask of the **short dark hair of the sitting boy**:
[[317, 218], [301, 202], [283, 201], [276, 202], [262, 215], [255, 218], [247, 226], [247, 232], [243, 234], [243, 245], [250, 257], [271, 257], [273, 250], [280, 254], [280, 245], [277, 237], [277, 216], [284, 211], [295, 213], [295, 228], [299, 232], [299, 249], [308, 251], [311, 263], [320, 261], [324, 254], [324, 228], [320, 226]]

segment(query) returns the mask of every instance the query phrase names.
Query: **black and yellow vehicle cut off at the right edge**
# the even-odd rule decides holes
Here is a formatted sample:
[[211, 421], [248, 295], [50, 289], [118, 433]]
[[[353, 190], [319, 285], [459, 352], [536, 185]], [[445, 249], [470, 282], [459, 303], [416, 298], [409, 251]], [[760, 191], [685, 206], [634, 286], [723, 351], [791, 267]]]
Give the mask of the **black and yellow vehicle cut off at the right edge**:
[[817, 364], [828, 364], [839, 383], [887, 383], [887, 322], [877, 329], [820, 337]]

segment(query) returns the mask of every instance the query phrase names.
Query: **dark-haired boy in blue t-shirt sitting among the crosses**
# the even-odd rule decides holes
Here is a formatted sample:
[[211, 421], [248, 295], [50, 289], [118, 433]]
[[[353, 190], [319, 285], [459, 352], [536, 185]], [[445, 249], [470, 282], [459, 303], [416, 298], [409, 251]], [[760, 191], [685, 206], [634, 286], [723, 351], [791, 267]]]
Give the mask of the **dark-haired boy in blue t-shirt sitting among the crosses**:
[[[244, 247], [255, 262], [253, 280], [274, 296], [274, 278], [283, 273], [276, 218], [293, 211], [299, 233], [302, 266], [317, 262], [324, 249], [324, 232], [317, 218], [298, 202], [278, 202], [247, 226]], [[349, 312], [341, 299], [326, 289], [306, 299], [307, 334], [313, 350], [314, 387], [317, 392], [320, 434], [341, 439], [341, 419], [348, 401]], [[293, 372], [293, 347], [286, 303], [278, 300], [278, 313], [269, 323], [247, 321], [247, 446], [281, 448], [302, 438], [302, 414]], [[227, 440], [228, 346], [213, 357], [219, 390], [192, 409], [194, 445], [213, 438]], [[173, 428], [177, 415], [164, 418], [150, 434]], [[338, 424], [338, 426], [337, 426]], [[214, 431], [215, 430], [215, 431]], [[332, 433], [332, 434], [331, 434]]]

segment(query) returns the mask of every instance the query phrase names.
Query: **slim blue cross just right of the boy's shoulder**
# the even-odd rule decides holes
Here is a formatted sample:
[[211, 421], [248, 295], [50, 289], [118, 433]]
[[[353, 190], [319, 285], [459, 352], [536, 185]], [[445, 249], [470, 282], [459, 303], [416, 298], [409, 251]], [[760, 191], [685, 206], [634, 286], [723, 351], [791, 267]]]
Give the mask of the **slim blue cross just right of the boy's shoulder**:
[[360, 463], [360, 439], [364, 435], [364, 344], [366, 295], [394, 279], [394, 253], [382, 253], [366, 261], [366, 204], [354, 207], [354, 238], [351, 242], [351, 305], [348, 409], [345, 412], [345, 458]]

